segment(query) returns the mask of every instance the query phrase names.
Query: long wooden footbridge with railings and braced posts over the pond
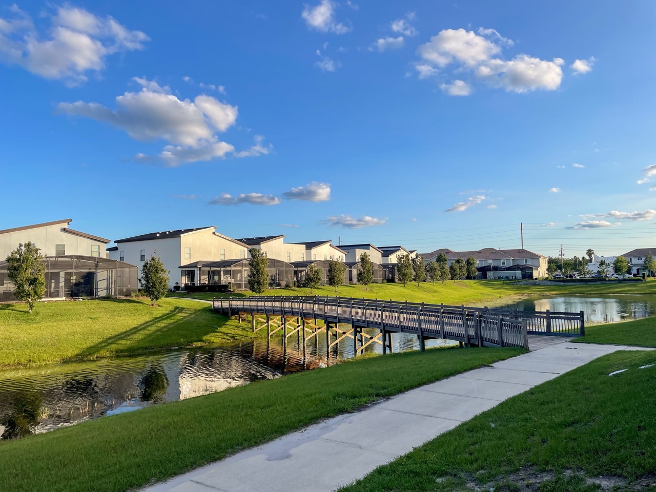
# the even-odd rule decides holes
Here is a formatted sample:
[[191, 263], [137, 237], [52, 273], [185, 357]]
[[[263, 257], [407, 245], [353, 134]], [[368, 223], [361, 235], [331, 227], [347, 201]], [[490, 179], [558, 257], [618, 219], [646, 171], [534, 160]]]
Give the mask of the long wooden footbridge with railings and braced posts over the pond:
[[[268, 337], [281, 332], [285, 345], [287, 338], [296, 335], [299, 344], [302, 338], [304, 350], [306, 340], [323, 333], [328, 352], [347, 339], [353, 342], [354, 354], [373, 343], [382, 345], [383, 354], [391, 352], [393, 333], [416, 335], [422, 351], [425, 340], [436, 338], [455, 340], [461, 346], [529, 348], [529, 334], [581, 337], [585, 333], [583, 311], [533, 312], [319, 296], [223, 297], [214, 298], [212, 307], [226, 316], [250, 314], [254, 332], [266, 329]], [[372, 335], [365, 329], [379, 333]]]

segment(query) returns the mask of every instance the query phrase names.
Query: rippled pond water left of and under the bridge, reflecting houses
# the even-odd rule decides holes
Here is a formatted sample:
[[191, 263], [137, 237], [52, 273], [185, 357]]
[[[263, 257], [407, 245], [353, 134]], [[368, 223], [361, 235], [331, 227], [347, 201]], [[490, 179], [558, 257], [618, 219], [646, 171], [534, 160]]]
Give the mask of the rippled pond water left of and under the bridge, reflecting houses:
[[[438, 344], [441, 340], [426, 340], [426, 346]], [[419, 342], [412, 335], [394, 334], [392, 348], [394, 352], [417, 349]], [[382, 346], [370, 344], [365, 352], [382, 352]], [[260, 338], [93, 363], [0, 371], [0, 439], [326, 367], [352, 356], [353, 343], [348, 338], [333, 346], [327, 357], [325, 334], [308, 340], [305, 354], [293, 335], [287, 338], [286, 348], [282, 338], [272, 337], [270, 342]]]

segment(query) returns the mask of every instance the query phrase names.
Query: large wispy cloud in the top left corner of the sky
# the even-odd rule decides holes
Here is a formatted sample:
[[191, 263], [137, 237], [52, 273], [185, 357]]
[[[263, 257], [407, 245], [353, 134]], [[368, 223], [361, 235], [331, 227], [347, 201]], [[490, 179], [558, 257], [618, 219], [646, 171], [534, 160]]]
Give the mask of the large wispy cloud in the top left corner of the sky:
[[51, 24], [47, 32], [39, 32], [16, 5], [9, 10], [12, 18], [0, 18], [0, 61], [45, 79], [62, 79], [70, 87], [103, 70], [108, 56], [144, 49], [149, 41], [142, 31], [127, 30], [111, 16], [98, 17], [68, 4], [45, 15]]

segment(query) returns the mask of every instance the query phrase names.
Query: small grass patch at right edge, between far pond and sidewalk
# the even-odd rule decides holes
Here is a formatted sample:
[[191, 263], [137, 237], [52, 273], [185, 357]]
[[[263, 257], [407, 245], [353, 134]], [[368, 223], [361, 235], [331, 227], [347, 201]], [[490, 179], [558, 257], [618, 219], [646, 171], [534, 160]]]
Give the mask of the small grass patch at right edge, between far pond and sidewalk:
[[585, 337], [575, 338], [572, 341], [656, 347], [656, 318], [588, 326], [585, 329]]

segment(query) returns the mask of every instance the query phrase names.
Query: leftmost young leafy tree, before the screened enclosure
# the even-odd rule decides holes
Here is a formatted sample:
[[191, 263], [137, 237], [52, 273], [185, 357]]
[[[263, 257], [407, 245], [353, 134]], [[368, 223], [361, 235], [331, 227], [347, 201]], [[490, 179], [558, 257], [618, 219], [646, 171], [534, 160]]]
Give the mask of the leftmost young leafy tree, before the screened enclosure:
[[45, 294], [45, 264], [41, 250], [28, 241], [19, 244], [7, 256], [7, 276], [14, 284], [14, 297], [28, 303], [31, 313], [34, 304]]

